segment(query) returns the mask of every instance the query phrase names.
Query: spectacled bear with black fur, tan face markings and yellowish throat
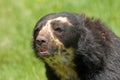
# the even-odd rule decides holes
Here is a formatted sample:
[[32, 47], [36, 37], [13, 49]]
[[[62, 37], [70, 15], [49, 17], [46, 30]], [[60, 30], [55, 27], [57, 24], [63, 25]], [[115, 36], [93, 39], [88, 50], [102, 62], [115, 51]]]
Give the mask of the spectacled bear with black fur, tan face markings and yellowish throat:
[[33, 30], [33, 49], [48, 80], [120, 80], [120, 38], [85, 14], [42, 17]]

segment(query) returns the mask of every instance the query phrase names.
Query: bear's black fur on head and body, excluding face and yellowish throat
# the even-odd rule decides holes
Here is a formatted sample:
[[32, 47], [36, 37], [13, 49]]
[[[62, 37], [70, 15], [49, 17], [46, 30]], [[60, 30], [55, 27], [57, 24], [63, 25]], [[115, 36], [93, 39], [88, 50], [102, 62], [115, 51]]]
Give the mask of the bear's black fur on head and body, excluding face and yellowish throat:
[[[33, 30], [33, 49], [38, 55], [35, 39], [41, 26], [56, 17], [67, 17], [73, 27], [66, 27], [64, 35], [57, 38], [66, 48], [74, 49], [73, 62], [80, 80], [120, 80], [120, 38], [100, 20], [68, 12], [49, 14]], [[46, 62], [48, 80], [60, 80]], [[73, 80], [73, 79], [70, 79]]]

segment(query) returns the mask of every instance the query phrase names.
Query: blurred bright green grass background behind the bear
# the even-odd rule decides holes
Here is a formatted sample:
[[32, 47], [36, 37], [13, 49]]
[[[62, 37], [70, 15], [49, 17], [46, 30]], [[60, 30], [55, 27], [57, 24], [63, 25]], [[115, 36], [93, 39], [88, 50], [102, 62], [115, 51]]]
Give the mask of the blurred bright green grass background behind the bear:
[[40, 17], [69, 11], [100, 18], [120, 36], [120, 0], [0, 0], [0, 80], [47, 80], [32, 51]]

